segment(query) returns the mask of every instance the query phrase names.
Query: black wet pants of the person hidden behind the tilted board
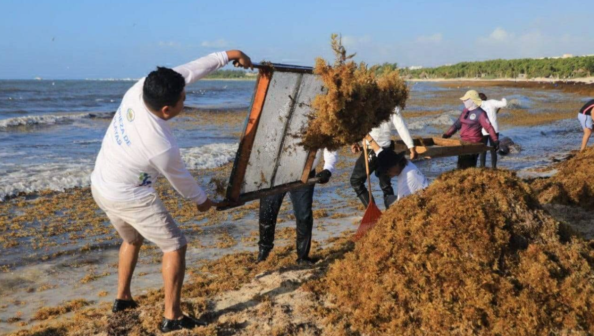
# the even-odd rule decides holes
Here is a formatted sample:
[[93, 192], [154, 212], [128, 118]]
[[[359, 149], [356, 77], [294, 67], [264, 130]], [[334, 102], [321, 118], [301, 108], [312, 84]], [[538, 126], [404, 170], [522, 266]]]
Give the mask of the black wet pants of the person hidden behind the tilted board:
[[[311, 171], [309, 178], [315, 176]], [[279, 215], [280, 205], [286, 193], [274, 194], [260, 199], [260, 241], [261, 250], [270, 251], [274, 247], [274, 228], [276, 217]], [[289, 191], [293, 203], [297, 225], [297, 257], [304, 258], [309, 255], [311, 248], [311, 231], [314, 227], [314, 214], [311, 210], [314, 201], [314, 185], [296, 188]]]

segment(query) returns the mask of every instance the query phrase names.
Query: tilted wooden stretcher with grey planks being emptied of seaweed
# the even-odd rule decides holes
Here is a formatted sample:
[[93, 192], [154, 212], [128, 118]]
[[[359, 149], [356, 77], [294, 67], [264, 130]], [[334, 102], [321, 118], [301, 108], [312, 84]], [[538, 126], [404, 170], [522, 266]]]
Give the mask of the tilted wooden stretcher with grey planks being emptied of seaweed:
[[259, 69], [251, 107], [225, 200], [217, 210], [315, 184], [309, 178], [315, 151], [306, 151], [297, 136], [308, 123], [309, 103], [323, 92], [313, 68], [276, 63], [254, 64]]

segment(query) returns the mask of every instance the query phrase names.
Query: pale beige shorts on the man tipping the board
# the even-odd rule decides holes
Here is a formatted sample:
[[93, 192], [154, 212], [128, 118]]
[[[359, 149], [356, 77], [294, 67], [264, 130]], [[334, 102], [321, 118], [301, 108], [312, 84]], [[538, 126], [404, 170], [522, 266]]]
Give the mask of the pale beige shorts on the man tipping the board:
[[157, 194], [121, 202], [103, 198], [92, 185], [91, 193], [125, 242], [134, 243], [145, 238], [163, 252], [175, 251], [187, 244], [184, 233], [175, 225]]

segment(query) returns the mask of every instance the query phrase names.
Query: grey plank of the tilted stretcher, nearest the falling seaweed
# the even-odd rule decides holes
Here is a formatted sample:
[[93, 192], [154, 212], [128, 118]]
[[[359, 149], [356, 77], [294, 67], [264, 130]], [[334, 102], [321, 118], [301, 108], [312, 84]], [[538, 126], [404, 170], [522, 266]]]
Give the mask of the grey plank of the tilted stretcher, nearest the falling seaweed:
[[302, 178], [309, 152], [299, 145], [301, 142], [299, 134], [309, 121], [311, 100], [322, 91], [322, 83], [318, 76], [303, 75], [298, 93], [292, 97], [295, 104], [293, 113], [287, 121], [285, 139], [279, 152], [277, 171], [272, 181], [273, 186], [291, 183]]

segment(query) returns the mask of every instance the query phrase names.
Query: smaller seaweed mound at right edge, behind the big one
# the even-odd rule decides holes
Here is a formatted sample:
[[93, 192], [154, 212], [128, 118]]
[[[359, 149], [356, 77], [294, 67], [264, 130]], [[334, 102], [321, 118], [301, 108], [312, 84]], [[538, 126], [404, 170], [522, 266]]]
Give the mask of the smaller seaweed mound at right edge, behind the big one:
[[557, 169], [553, 177], [532, 184], [539, 201], [594, 209], [594, 147], [584, 149]]

